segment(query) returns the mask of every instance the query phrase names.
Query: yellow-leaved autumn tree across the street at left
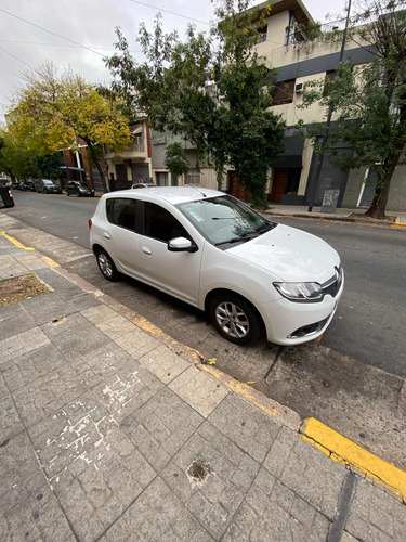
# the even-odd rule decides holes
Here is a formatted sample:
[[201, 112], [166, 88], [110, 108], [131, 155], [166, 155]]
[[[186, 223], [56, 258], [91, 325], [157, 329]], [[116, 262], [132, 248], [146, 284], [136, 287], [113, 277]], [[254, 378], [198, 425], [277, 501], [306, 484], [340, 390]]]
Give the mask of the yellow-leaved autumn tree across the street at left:
[[101, 95], [80, 75], [66, 72], [58, 77], [52, 64], [27, 73], [25, 80], [10, 112], [14, 138], [42, 154], [76, 149], [83, 140], [107, 191], [97, 145], [121, 149], [131, 144], [128, 120], [117, 99]]

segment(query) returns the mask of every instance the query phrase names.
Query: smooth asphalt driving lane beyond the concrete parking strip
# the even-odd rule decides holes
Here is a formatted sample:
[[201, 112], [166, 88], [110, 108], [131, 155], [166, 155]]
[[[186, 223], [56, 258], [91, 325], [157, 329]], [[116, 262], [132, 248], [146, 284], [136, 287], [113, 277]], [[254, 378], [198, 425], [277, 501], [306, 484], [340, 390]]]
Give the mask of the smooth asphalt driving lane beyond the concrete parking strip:
[[[16, 206], [8, 211], [10, 215], [89, 248], [88, 220], [97, 198], [15, 191], [14, 199]], [[318, 235], [341, 256], [345, 291], [323, 344], [406, 376], [406, 233], [314, 219], [275, 220]]]

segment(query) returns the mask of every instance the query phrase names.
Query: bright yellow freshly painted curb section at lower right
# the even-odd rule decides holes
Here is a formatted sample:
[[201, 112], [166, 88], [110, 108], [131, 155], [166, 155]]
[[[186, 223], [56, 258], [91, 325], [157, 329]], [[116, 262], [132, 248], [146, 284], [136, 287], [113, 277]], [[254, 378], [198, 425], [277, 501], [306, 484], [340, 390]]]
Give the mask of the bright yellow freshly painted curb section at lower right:
[[333, 461], [365, 473], [369, 478], [402, 495], [406, 503], [406, 473], [404, 470], [364, 450], [314, 417], [303, 422], [301, 433], [303, 440], [316, 446]]

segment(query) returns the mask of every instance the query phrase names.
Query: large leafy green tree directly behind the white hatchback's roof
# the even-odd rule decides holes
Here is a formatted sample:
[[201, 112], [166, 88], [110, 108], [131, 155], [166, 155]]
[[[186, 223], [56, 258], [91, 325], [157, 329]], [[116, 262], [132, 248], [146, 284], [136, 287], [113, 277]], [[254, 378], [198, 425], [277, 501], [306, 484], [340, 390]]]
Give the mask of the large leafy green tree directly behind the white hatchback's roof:
[[265, 207], [266, 172], [284, 147], [285, 122], [269, 111], [272, 73], [254, 52], [258, 28], [269, 7], [248, 10], [248, 0], [223, 0], [211, 34], [188, 27], [180, 41], [165, 35], [160, 18], [154, 33], [144, 25], [139, 41], [146, 62], [137, 64], [117, 29], [117, 54], [107, 60], [113, 89], [135, 111], [147, 115], [155, 130], [182, 133], [212, 165], [221, 186], [233, 165], [256, 207]]

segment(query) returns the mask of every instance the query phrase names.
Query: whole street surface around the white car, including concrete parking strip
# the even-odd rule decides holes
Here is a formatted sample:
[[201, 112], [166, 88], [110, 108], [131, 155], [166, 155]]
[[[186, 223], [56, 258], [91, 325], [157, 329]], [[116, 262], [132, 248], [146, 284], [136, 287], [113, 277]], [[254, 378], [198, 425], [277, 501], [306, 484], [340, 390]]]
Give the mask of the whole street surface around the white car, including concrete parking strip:
[[322, 341], [281, 348], [262, 339], [239, 347], [223, 339], [197, 309], [132, 279], [110, 283], [103, 278], [88, 250], [88, 219], [97, 199], [17, 191], [14, 197], [14, 208], [0, 210], [22, 221], [11, 235], [178, 341], [214, 358], [221, 371], [406, 469], [406, 232], [277, 219], [323, 237], [339, 251], [344, 294]]

